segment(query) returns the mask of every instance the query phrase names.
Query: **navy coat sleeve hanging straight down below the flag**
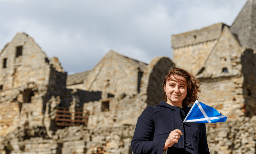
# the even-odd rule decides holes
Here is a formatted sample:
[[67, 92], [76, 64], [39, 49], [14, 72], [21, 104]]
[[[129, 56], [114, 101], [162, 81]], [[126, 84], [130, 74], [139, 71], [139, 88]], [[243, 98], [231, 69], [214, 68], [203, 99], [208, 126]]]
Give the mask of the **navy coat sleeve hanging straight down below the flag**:
[[198, 150], [199, 150], [199, 154], [210, 154], [208, 143], [207, 143], [205, 124], [203, 124], [203, 127], [201, 129], [201, 136], [199, 138]]

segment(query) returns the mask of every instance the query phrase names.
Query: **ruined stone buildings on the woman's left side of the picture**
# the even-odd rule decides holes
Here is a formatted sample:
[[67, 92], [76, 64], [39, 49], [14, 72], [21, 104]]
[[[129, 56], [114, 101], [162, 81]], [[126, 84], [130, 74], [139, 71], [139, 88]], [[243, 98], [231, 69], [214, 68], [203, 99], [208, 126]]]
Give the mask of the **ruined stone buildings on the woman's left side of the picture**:
[[172, 61], [150, 64], [110, 50], [67, 77], [26, 33], [0, 53], [1, 154], [131, 154], [137, 117], [163, 100]]

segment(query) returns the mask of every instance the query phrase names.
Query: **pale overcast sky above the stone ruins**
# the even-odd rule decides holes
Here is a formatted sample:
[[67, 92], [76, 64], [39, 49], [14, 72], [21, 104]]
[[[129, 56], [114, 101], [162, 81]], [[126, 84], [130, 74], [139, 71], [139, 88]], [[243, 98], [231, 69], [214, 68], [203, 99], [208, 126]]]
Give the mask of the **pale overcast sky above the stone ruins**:
[[232, 25], [246, 0], [0, 0], [0, 49], [33, 37], [68, 74], [91, 70], [109, 51], [149, 63], [172, 58], [172, 34]]

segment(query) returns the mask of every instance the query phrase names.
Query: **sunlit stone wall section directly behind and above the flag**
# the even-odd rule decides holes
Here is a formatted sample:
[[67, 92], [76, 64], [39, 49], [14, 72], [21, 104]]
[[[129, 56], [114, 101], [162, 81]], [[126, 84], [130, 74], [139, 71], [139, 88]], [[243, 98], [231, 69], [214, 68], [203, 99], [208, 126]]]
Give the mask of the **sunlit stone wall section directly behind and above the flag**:
[[230, 76], [199, 80], [202, 84], [201, 93], [198, 94], [200, 102], [216, 108], [221, 114], [228, 117], [228, 121], [236, 120], [239, 116], [244, 115], [241, 84], [243, 79]]

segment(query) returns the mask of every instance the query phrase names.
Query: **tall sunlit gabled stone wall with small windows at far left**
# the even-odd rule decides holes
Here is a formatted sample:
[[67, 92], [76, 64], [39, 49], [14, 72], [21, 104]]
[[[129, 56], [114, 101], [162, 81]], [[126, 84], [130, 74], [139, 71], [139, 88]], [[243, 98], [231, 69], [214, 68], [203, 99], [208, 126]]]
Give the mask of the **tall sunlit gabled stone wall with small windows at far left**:
[[50, 113], [60, 103], [71, 102], [66, 72], [58, 59], [49, 59], [33, 38], [17, 33], [1, 50], [0, 63], [0, 137], [24, 125], [31, 132], [45, 129], [51, 136], [54, 115]]

